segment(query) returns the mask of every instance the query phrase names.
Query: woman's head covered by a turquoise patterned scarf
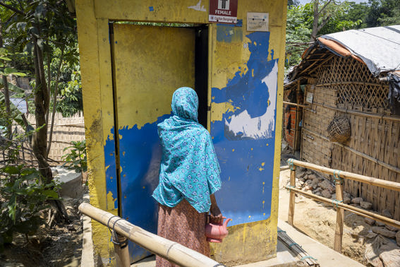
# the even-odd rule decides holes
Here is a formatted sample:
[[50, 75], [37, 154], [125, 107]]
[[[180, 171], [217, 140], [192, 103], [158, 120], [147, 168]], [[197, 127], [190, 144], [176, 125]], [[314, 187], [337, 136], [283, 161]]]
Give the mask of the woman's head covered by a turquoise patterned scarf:
[[198, 95], [192, 88], [178, 88], [172, 96], [172, 112], [178, 117], [198, 121], [198, 106]]

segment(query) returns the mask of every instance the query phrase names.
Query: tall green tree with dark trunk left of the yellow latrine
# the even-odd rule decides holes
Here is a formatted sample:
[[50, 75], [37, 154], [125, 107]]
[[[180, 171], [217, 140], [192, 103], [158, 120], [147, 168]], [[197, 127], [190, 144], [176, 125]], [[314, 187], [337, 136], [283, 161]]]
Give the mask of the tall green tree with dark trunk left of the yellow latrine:
[[[68, 14], [64, 1], [37, 0], [37, 1], [0, 1], [0, 5], [13, 14], [8, 18], [6, 33], [15, 37], [15, 43], [8, 44], [28, 52], [28, 57], [33, 62], [35, 73], [35, 119], [37, 129], [32, 135], [32, 151], [37, 159], [40, 177], [43, 184], [51, 184], [53, 177], [47, 155], [49, 143], [47, 142], [47, 126], [49, 125], [50, 97], [56, 100], [59, 88], [61, 66], [66, 60], [66, 55], [75, 52], [76, 32], [75, 20]], [[6, 40], [3, 37], [3, 42]], [[75, 50], [74, 50], [75, 49]], [[55, 71], [51, 69], [54, 54], [59, 52], [59, 61]], [[55, 110], [56, 101], [52, 110]], [[53, 119], [52, 119], [53, 120]], [[65, 208], [61, 201], [50, 202], [58, 211], [57, 218], [68, 220]]]

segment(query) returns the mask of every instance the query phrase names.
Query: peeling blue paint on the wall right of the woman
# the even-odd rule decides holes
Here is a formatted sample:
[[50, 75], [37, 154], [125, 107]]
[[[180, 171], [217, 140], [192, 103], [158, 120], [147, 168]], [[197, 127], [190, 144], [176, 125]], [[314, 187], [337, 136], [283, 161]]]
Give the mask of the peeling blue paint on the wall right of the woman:
[[[211, 123], [211, 135], [222, 169], [223, 184], [216, 194], [217, 201], [224, 216], [234, 219], [233, 225], [265, 220], [271, 213], [276, 108], [269, 111], [271, 123], [265, 126], [267, 134], [253, 137], [229, 129], [232, 119], [243, 116], [246, 111], [248, 119], [260, 118], [256, 127], [260, 130], [269, 102], [277, 101], [277, 83], [272, 88], [268, 88], [268, 81], [266, 83], [268, 79], [277, 79], [278, 59], [267, 61], [269, 32], [253, 32], [247, 37], [251, 54], [246, 74], [237, 71], [225, 88], [212, 88], [212, 102], [231, 102], [236, 107], [226, 112], [222, 121]], [[226, 42], [223, 38], [218, 41]], [[243, 121], [243, 131], [246, 127]]]

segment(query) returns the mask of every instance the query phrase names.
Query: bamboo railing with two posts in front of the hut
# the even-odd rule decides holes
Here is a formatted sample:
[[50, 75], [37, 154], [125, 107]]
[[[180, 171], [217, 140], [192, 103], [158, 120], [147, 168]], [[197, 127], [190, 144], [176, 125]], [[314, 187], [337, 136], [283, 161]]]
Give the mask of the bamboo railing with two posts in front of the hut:
[[[341, 253], [341, 240], [343, 237], [343, 223], [344, 223], [344, 210], [349, 210], [352, 213], [357, 215], [371, 218], [373, 220], [378, 220], [382, 223], [386, 223], [387, 225], [392, 225], [394, 227], [400, 228], [400, 222], [398, 220], [393, 220], [391, 218], [387, 218], [382, 215], [378, 215], [372, 213], [368, 210], [363, 210], [361, 208], [356, 208], [347, 204], [342, 203], [343, 201], [343, 180], [351, 179], [357, 182], [363, 182], [366, 184], [370, 184], [373, 186], [380, 186], [386, 189], [392, 189], [395, 191], [400, 191], [400, 183], [385, 181], [382, 179], [372, 178], [360, 174], [354, 174], [351, 172], [343, 172], [341, 170], [333, 170], [328, 167], [322, 167], [319, 165], [315, 165], [308, 162], [303, 162], [300, 160], [295, 160], [293, 158], [289, 158], [288, 160], [289, 167], [291, 168], [290, 172], [290, 186], [285, 186], [286, 189], [289, 189], [289, 213], [288, 213], [288, 223], [293, 226], [294, 219], [294, 205], [295, 205], [295, 196], [297, 194], [301, 194], [308, 198], [313, 198], [316, 201], [322, 201], [325, 203], [332, 203], [332, 205], [337, 206], [337, 218], [336, 218], [336, 228], [334, 235], [334, 250]], [[315, 194], [311, 194], [305, 191], [301, 191], [300, 189], [296, 189], [296, 166], [305, 167], [311, 170], [316, 170], [317, 172], [323, 172], [325, 174], [331, 174], [334, 176], [335, 185], [336, 185], [336, 198], [334, 201], [329, 198], [324, 198], [322, 196], [317, 196]]]

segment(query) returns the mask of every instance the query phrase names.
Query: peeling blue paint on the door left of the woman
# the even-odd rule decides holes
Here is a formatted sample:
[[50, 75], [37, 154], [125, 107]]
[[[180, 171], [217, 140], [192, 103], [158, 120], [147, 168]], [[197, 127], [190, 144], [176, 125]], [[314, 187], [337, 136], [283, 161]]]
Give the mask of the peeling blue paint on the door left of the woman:
[[[157, 233], [157, 202], [152, 198], [152, 191], [159, 181], [159, 164], [161, 161], [161, 146], [157, 135], [157, 124], [171, 116], [166, 114], [152, 124], [145, 124], [138, 129], [124, 126], [119, 129], [119, 160], [121, 166], [121, 214], [122, 218], [143, 229]], [[114, 129], [111, 131], [114, 132]], [[107, 139], [104, 153], [110, 167], [106, 172], [108, 187], [116, 189], [116, 179], [111, 179], [111, 154], [114, 141]], [[110, 158], [108, 158], [110, 157]], [[111, 169], [112, 168], [112, 169]], [[115, 184], [114, 184], [115, 182]], [[116, 197], [116, 194], [113, 196]], [[130, 242], [129, 251], [133, 260], [142, 259], [148, 251]]]

